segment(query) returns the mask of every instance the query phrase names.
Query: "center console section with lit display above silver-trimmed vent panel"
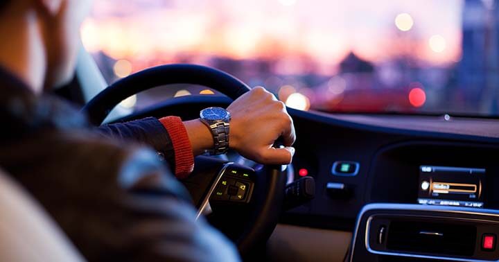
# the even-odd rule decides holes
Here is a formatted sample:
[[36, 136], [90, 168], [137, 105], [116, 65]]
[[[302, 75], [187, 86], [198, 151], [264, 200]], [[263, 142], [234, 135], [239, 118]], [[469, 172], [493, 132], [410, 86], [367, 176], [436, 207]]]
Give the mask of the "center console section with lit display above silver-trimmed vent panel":
[[349, 261], [499, 261], [498, 152], [430, 141], [378, 150]]

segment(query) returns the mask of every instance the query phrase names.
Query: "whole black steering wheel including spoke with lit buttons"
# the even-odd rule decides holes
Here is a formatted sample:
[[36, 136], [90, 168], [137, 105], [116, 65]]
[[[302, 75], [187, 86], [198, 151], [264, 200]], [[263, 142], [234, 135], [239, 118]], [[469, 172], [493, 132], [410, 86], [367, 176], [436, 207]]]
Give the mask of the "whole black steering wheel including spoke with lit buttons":
[[[152, 67], [114, 82], [95, 96], [83, 111], [100, 125], [111, 110], [129, 96], [171, 84], [202, 85], [235, 100], [250, 88], [228, 73], [193, 64]], [[184, 182], [200, 213], [208, 200], [212, 225], [234, 243], [242, 256], [266, 243], [277, 225], [284, 199], [285, 166], [249, 168], [211, 157], [196, 157], [195, 170]], [[242, 189], [245, 189], [241, 193]], [[229, 192], [229, 190], [231, 192]], [[236, 192], [237, 191], [237, 192]], [[231, 193], [231, 194], [229, 194]]]

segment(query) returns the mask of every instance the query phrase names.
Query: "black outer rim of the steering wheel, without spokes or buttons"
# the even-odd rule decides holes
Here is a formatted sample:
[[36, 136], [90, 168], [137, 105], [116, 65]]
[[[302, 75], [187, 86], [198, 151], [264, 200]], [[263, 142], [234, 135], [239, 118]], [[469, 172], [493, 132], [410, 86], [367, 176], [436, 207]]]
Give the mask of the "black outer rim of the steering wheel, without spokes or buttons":
[[[91, 123], [100, 125], [125, 98], [140, 91], [171, 84], [202, 85], [220, 91], [233, 100], [250, 90], [234, 76], [211, 67], [168, 64], [152, 67], [114, 82], [91, 99], [82, 111], [87, 114]], [[261, 175], [258, 176], [260, 186], [256, 207], [245, 223], [252, 225], [252, 228], [244, 227], [243, 233], [232, 239], [242, 256], [250, 254], [252, 248], [262, 240], [266, 241], [277, 225], [286, 187], [286, 176], [282, 171], [283, 166], [263, 166]]]

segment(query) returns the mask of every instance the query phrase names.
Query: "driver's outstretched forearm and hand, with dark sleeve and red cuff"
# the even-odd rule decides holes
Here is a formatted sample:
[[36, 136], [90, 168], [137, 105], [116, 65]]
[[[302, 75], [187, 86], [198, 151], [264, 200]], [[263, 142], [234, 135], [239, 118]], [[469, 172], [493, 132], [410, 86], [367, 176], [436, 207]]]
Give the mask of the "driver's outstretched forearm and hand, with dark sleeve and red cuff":
[[[263, 87], [255, 87], [236, 99], [231, 113], [229, 147], [261, 164], [289, 164], [295, 154], [295, 128], [286, 105]], [[213, 148], [213, 137], [199, 119], [184, 121], [169, 116], [104, 125], [100, 134], [148, 144], [164, 154], [177, 177], [189, 175], [193, 156]], [[285, 148], [273, 148], [281, 137]]]

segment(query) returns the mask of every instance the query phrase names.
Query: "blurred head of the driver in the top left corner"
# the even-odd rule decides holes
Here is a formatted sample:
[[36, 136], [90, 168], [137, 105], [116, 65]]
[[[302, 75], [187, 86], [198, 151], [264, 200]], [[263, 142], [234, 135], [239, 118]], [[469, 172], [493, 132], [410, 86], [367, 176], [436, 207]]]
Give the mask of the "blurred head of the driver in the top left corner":
[[[91, 0], [0, 0], [1, 23], [3, 23], [1, 19], [6, 17], [22, 18], [31, 23], [29, 30], [36, 31], [32, 33], [33, 35], [40, 35], [42, 44], [37, 51], [44, 53], [45, 87], [57, 87], [71, 80], [80, 46], [80, 24], [89, 12], [91, 2]], [[26, 27], [23, 23], [8, 26]], [[26, 30], [19, 28], [21, 29]]]

